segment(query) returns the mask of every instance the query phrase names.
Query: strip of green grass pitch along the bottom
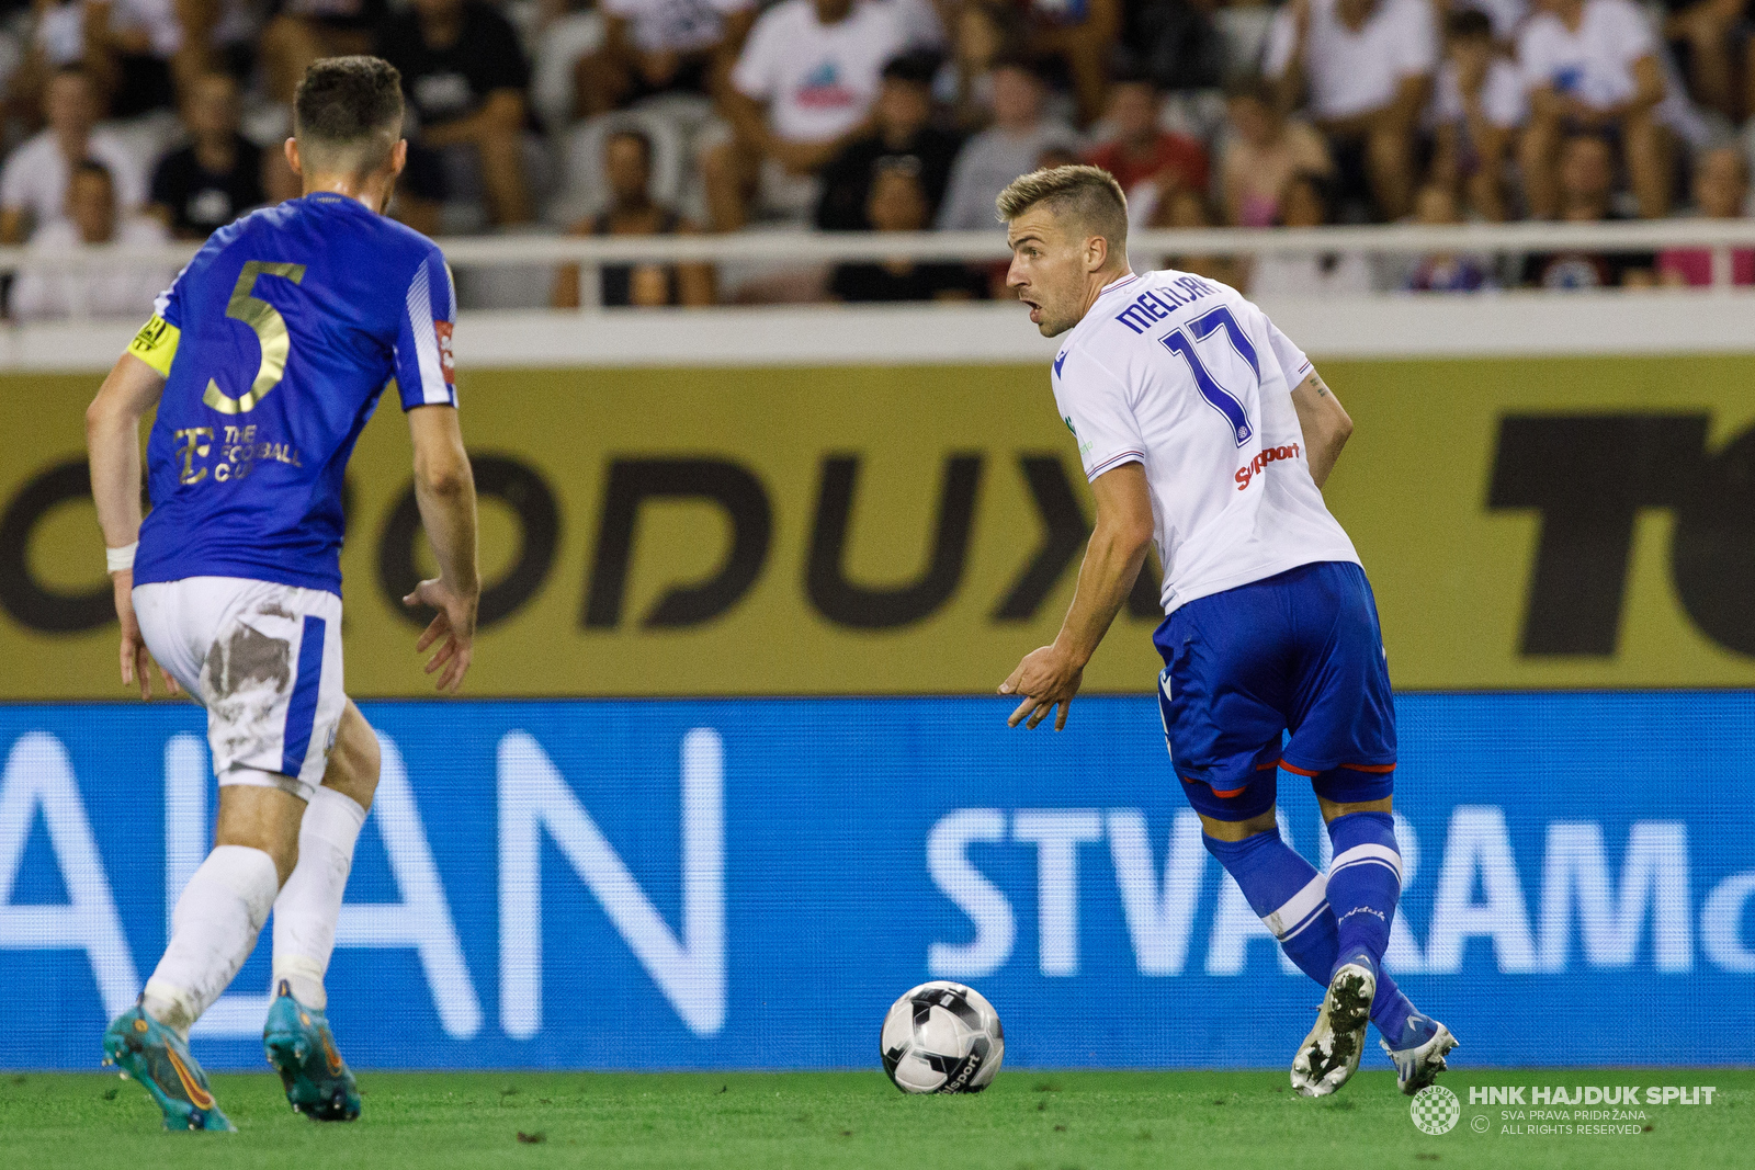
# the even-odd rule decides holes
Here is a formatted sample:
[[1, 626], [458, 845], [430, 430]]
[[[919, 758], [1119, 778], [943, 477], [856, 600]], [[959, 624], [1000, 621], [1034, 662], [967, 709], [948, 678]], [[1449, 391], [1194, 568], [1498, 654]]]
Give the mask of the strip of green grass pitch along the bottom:
[[[274, 1170], [863, 1168], [1290, 1170], [1293, 1166], [1755, 1165], [1755, 1070], [1469, 1070], [1455, 1130], [1415, 1128], [1390, 1074], [1307, 1102], [1283, 1072], [1000, 1072], [979, 1096], [909, 1098], [879, 1072], [362, 1074], [365, 1114], [323, 1126], [272, 1075], [216, 1075], [235, 1135], [168, 1135], [114, 1075], [0, 1074], [0, 1166]], [[1630, 1137], [1502, 1133], [1471, 1084], [1711, 1084], [1711, 1105], [1648, 1105]], [[1476, 1116], [1492, 1116], [1486, 1133]], [[1651, 1130], [1646, 1131], [1644, 1124]]]

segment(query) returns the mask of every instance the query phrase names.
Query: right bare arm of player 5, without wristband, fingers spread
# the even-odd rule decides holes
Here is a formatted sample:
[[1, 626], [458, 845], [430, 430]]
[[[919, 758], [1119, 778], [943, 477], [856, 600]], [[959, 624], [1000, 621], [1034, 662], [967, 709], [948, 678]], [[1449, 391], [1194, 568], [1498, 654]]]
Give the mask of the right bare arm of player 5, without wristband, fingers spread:
[[439, 561], [439, 575], [414, 586], [402, 603], [439, 610], [414, 649], [425, 653], [439, 646], [426, 661], [426, 674], [439, 672], [439, 689], [455, 695], [469, 674], [476, 609], [481, 603], [476, 477], [463, 449], [456, 409], [433, 405], [409, 410], [409, 433], [414, 437], [414, 500]]

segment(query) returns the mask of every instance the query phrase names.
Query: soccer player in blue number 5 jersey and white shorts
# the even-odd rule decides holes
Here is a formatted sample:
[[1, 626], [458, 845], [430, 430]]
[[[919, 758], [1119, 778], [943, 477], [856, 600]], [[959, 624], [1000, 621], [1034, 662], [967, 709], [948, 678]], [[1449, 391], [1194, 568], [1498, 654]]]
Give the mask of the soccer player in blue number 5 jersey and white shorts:
[[[274, 910], [263, 1028], [295, 1110], [360, 1114], [323, 977], [377, 738], [342, 691], [342, 475], [386, 389], [414, 439], [414, 493], [439, 561], [404, 602], [455, 693], [470, 663], [476, 489], [458, 430], [455, 295], [439, 247], [384, 218], [407, 160], [402, 82], [377, 58], [318, 61], [286, 158], [304, 196], [221, 228], [156, 302], [86, 412], [121, 619], [121, 677], [207, 709], [214, 849], [177, 900], [165, 954], [104, 1052], [170, 1130], [230, 1130], [188, 1033]], [[153, 510], [140, 519], [140, 419]]]

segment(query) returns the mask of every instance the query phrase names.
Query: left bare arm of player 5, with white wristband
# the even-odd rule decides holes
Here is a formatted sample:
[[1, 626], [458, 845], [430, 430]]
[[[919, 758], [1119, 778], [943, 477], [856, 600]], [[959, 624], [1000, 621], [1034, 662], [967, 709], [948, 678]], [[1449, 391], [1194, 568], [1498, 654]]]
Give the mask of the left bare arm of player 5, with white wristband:
[[[91, 498], [112, 563], [116, 617], [121, 621], [121, 681], [139, 682], [140, 698], [153, 696], [153, 656], [140, 639], [133, 614], [132, 551], [140, 540], [140, 419], [158, 405], [165, 377], [133, 354], [123, 354], [104, 379], [98, 396], [86, 409], [86, 451], [91, 460]], [[165, 689], [177, 693], [177, 681], [163, 670]]]

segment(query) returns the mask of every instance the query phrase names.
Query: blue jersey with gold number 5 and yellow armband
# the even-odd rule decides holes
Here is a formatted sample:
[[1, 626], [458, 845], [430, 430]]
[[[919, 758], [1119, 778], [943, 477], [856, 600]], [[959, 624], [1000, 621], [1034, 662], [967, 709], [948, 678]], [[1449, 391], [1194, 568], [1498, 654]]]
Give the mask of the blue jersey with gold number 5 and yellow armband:
[[167, 377], [135, 584], [340, 593], [342, 475], [377, 396], [456, 405], [439, 247], [332, 193], [212, 233], [128, 347]]

